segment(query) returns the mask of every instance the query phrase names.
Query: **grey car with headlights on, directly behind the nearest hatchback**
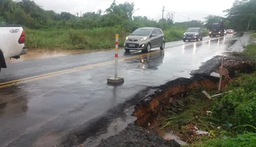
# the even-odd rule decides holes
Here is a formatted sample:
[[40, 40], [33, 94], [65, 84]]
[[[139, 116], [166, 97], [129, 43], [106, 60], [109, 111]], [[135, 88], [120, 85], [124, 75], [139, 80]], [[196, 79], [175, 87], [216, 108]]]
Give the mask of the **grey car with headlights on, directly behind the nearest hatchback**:
[[191, 40], [196, 40], [199, 41], [199, 39], [202, 41], [203, 38], [203, 32], [201, 28], [189, 28], [187, 31], [184, 33], [183, 41], [191, 41]]

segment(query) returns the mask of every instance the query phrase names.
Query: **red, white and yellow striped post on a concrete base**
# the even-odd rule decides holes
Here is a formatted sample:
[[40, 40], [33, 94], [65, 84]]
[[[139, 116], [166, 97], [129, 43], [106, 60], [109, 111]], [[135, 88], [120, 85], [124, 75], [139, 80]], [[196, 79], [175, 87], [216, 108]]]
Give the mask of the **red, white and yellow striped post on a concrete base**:
[[116, 34], [116, 41], [115, 41], [115, 74], [114, 77], [107, 78], [107, 83], [110, 84], [119, 84], [123, 83], [123, 77], [117, 77], [117, 68], [118, 68], [118, 44], [119, 44], [119, 34]]

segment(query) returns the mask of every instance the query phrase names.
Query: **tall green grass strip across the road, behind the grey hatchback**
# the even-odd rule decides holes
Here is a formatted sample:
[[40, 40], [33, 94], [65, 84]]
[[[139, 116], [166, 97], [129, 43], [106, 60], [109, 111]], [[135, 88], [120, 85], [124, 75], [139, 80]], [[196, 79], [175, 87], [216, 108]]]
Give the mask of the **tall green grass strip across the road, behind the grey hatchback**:
[[[166, 41], [182, 40], [187, 28], [172, 26], [165, 30]], [[25, 28], [26, 44], [29, 48], [46, 49], [110, 49], [114, 47], [115, 34], [120, 34], [119, 46], [123, 47], [123, 41], [131, 32], [122, 28], [94, 28], [94, 29], [41, 29], [33, 30]]]

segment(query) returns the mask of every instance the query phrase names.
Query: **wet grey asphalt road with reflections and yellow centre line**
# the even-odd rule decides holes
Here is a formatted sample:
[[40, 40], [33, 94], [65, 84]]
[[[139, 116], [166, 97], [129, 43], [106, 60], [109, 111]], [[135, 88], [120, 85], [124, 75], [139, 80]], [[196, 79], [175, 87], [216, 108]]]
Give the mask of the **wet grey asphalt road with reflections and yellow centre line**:
[[[114, 51], [8, 64], [0, 74], [0, 146], [54, 146], [83, 130], [79, 142], [90, 139], [110, 124], [100, 118], [125, 115], [134, 102], [152, 92], [150, 87], [190, 77], [191, 70], [215, 55], [241, 51], [248, 39], [249, 34], [175, 41], [164, 51], [148, 54], [120, 50], [118, 72], [125, 83], [119, 87], [106, 84], [113, 75]], [[126, 106], [110, 114], [123, 103]]]

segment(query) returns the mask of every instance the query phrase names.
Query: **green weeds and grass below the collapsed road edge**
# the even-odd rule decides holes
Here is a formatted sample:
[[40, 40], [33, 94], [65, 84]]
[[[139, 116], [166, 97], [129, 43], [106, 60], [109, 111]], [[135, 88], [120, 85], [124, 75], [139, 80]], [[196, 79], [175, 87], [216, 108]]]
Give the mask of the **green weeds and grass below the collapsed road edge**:
[[[173, 131], [189, 146], [256, 145], [256, 73], [241, 74], [228, 90], [232, 92], [214, 100], [191, 93], [183, 103], [164, 106], [159, 128]], [[195, 127], [209, 136], [196, 135]]]

